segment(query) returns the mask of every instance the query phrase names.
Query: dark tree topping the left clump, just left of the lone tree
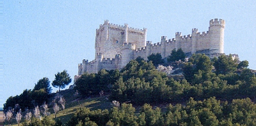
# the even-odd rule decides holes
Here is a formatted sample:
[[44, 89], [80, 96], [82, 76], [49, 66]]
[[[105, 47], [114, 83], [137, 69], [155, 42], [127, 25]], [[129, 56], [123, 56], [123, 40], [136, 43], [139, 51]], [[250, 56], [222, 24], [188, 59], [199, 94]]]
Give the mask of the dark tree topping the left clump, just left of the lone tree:
[[48, 78], [42, 78], [40, 79], [36, 84], [35, 87], [33, 89], [33, 92], [35, 90], [40, 90], [42, 88], [45, 88], [45, 92], [47, 92], [47, 94], [51, 94], [51, 86], [50, 86], [50, 81]]

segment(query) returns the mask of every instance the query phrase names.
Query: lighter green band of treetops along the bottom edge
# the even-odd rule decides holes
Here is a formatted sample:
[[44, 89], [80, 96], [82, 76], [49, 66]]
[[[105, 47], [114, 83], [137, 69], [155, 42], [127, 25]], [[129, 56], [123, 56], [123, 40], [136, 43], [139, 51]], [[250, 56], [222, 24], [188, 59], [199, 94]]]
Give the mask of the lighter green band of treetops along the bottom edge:
[[256, 125], [256, 104], [249, 98], [236, 99], [230, 104], [211, 97], [204, 101], [190, 98], [182, 105], [170, 104], [164, 112], [150, 104], [140, 111], [132, 104], [122, 104], [110, 111], [81, 108], [67, 125]]

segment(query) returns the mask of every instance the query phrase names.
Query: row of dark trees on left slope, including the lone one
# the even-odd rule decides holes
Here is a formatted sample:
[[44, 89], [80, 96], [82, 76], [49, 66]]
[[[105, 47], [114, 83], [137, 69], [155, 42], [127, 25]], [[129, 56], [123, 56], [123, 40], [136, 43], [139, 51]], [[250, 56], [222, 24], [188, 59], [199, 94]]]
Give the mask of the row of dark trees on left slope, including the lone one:
[[[70, 76], [66, 70], [61, 73], [55, 74], [55, 80], [52, 81], [52, 86], [59, 88], [65, 88], [71, 82]], [[8, 111], [14, 108], [14, 112], [17, 113], [20, 109], [26, 111], [26, 109], [33, 109], [35, 106], [41, 106], [44, 102], [48, 103], [52, 88], [49, 78], [42, 78], [35, 84], [33, 90], [26, 89], [20, 95], [11, 96], [6, 100], [4, 104], [4, 111]]]

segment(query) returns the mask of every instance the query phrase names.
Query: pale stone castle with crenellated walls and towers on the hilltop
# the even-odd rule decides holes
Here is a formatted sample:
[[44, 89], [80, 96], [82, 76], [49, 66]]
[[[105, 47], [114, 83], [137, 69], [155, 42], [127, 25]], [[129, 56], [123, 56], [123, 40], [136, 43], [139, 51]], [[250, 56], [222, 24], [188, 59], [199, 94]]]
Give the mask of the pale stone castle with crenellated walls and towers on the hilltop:
[[125, 25], [109, 24], [108, 20], [96, 29], [95, 60], [78, 65], [78, 76], [83, 73], [97, 73], [100, 69], [122, 69], [132, 59], [141, 57], [147, 60], [152, 53], [161, 53], [168, 57], [173, 49], [181, 48], [187, 55], [205, 53], [209, 56], [224, 53], [225, 20], [215, 18], [209, 22], [209, 31], [198, 32], [192, 29], [192, 34], [182, 36], [175, 33], [175, 39], [161, 37], [160, 43], [147, 41], [147, 29], [134, 29]]

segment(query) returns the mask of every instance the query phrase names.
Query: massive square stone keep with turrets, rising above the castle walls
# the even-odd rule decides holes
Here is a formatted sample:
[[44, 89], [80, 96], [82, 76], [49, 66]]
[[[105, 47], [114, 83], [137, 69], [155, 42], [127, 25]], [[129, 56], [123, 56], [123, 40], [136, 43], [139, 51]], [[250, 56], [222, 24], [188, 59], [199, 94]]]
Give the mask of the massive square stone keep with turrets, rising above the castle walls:
[[135, 48], [141, 48], [146, 45], [147, 29], [134, 29], [125, 25], [109, 24], [108, 20], [96, 29], [95, 37], [95, 57], [100, 53], [104, 58], [115, 58], [115, 55], [121, 53], [122, 46], [125, 43], [132, 43]]

